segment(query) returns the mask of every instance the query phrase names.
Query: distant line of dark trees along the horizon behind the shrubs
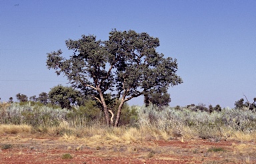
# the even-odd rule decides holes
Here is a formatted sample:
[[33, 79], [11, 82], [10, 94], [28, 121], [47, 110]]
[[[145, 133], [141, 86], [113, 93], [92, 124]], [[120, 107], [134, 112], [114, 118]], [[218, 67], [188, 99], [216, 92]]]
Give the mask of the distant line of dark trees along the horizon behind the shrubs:
[[[105, 97], [107, 97], [107, 105], [110, 107], [113, 105], [113, 100], [111, 100], [111, 94], [106, 94]], [[37, 102], [44, 104], [48, 107], [53, 108], [66, 108], [67, 110], [72, 110], [72, 108], [76, 107], [79, 108], [81, 106], [93, 106], [93, 108], [98, 108], [100, 110], [101, 104], [97, 101], [97, 97], [90, 96], [89, 93], [83, 93], [78, 90], [73, 89], [69, 86], [62, 86], [58, 85], [49, 91], [47, 94], [46, 92], [41, 92], [39, 96], [30, 96], [28, 98], [25, 94], [17, 94], [16, 95], [17, 101], [21, 104], [24, 102]], [[253, 99], [253, 102], [249, 102], [245, 96], [246, 101], [241, 98], [240, 100], [237, 100], [234, 104], [235, 109], [241, 109], [241, 110], [252, 110], [255, 111], [256, 109], [256, 98]], [[1, 99], [0, 99], [1, 100]], [[154, 106], [157, 106], [159, 109], [165, 108], [166, 106], [169, 106], [169, 102], [171, 102], [171, 98], [169, 94], [163, 93], [163, 92], [154, 92], [154, 93], [148, 93], [144, 95], [144, 104], [145, 106], [149, 106], [150, 104], [153, 104]], [[9, 98], [9, 103], [13, 103], [13, 98]], [[127, 104], [125, 105], [126, 108]], [[83, 108], [83, 107], [82, 107]], [[185, 107], [176, 106], [175, 110], [182, 110], [183, 108], [187, 108], [189, 110], [193, 110], [195, 112], [221, 112], [222, 108], [219, 104], [216, 106], [212, 106], [211, 104], [209, 106], [206, 106], [203, 103], [199, 103], [197, 105], [195, 104], [189, 104]], [[88, 111], [84, 111], [88, 112]]]

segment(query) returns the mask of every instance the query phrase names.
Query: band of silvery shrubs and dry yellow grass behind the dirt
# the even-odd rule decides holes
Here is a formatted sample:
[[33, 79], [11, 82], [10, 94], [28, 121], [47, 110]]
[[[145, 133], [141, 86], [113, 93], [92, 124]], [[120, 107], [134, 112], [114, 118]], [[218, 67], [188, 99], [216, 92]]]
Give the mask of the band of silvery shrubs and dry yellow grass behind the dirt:
[[123, 108], [120, 127], [105, 125], [103, 111], [94, 102], [71, 110], [38, 102], [1, 103], [0, 133], [44, 133], [63, 139], [83, 137], [125, 141], [143, 139], [256, 138], [255, 110], [223, 108], [213, 112], [150, 105]]

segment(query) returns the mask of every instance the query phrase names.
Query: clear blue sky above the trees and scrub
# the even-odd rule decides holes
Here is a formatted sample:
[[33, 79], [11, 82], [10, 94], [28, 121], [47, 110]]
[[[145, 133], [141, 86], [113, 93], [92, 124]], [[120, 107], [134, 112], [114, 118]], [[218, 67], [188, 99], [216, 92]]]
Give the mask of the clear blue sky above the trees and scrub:
[[[0, 98], [49, 92], [67, 78], [46, 66], [65, 40], [112, 29], [159, 38], [157, 52], [176, 58], [183, 84], [169, 88], [170, 106], [234, 107], [256, 97], [256, 1], [0, 0]], [[245, 95], [245, 96], [244, 96]], [[143, 97], [130, 105], [143, 105]]]

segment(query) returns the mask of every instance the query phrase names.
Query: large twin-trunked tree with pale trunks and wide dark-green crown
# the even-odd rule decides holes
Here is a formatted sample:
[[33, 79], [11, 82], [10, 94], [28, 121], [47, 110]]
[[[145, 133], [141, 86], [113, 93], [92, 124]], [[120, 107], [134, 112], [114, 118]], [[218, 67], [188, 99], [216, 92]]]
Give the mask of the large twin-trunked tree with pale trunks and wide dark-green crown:
[[120, 101], [117, 127], [125, 102], [182, 83], [176, 74], [177, 60], [156, 52], [159, 39], [147, 33], [114, 29], [107, 41], [82, 35], [77, 41], [69, 39], [65, 43], [73, 54], [66, 59], [61, 50], [47, 53], [47, 68], [55, 69], [57, 75], [63, 73], [75, 88], [91, 92], [103, 106], [107, 125], [112, 112], [105, 103], [107, 93], [113, 92], [115, 104]]

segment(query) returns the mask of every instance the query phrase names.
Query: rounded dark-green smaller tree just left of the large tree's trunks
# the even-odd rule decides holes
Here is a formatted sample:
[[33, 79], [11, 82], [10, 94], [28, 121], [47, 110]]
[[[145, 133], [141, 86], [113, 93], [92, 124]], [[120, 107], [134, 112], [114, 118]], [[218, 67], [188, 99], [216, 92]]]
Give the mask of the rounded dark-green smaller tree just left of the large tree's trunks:
[[52, 104], [59, 104], [61, 108], [71, 109], [71, 104], [75, 104], [79, 98], [79, 92], [72, 87], [55, 86], [49, 92], [49, 100]]

